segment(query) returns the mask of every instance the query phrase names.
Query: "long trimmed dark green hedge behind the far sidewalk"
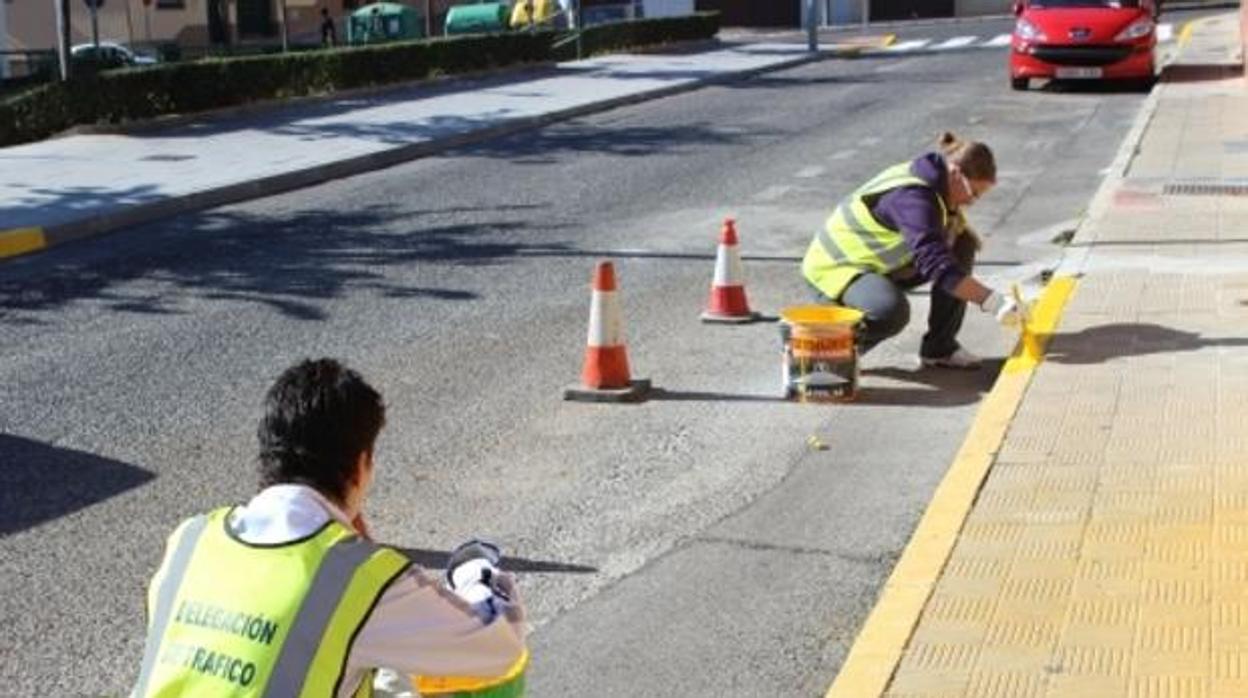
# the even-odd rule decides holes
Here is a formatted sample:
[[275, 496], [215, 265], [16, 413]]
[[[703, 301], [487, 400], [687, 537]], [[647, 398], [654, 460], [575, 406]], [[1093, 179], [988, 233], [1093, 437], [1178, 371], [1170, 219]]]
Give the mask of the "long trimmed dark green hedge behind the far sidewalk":
[[[0, 0], [2, 1], [2, 0]], [[719, 15], [700, 12], [610, 22], [582, 34], [585, 55], [709, 39]], [[505, 65], [574, 57], [575, 41], [550, 31], [456, 36], [323, 51], [205, 59], [109, 70], [51, 82], [0, 101], [0, 146], [85, 124], [120, 124], [256, 101], [423, 80]]]

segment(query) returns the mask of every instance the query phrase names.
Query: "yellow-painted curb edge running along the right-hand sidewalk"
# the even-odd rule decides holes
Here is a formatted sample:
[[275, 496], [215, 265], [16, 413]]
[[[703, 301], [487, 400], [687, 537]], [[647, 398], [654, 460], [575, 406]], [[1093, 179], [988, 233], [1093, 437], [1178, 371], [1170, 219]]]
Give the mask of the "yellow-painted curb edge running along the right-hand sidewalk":
[[1045, 287], [1031, 313], [1031, 341], [1020, 340], [983, 398], [962, 448], [932, 494], [826, 698], [876, 698], [889, 688], [1075, 285], [1073, 277], [1063, 276]]

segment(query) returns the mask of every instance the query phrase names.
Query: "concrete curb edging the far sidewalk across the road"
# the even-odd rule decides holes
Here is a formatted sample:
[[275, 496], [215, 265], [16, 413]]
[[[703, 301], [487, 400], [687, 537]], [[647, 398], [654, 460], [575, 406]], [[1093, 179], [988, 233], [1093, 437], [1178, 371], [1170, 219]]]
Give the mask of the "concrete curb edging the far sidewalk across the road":
[[303, 189], [307, 186], [312, 186], [334, 179], [348, 177], [352, 175], [359, 175], [374, 170], [382, 170], [386, 167], [399, 165], [402, 162], [408, 162], [421, 157], [427, 157], [429, 155], [443, 152], [454, 147], [461, 147], [464, 145], [497, 139], [500, 136], [509, 136], [518, 132], [548, 126], [550, 124], [555, 124], [559, 121], [567, 121], [569, 119], [575, 119], [579, 116], [587, 116], [590, 114], [609, 111], [620, 106], [656, 100], [660, 97], [666, 97], [681, 92], [689, 92], [709, 85], [746, 80], [758, 75], [764, 75], [766, 72], [786, 70], [809, 62], [816, 62], [834, 57], [851, 57], [856, 56], [859, 52], [861, 52], [860, 49], [805, 54], [801, 55], [800, 57], [780, 61], [763, 67], [725, 72], [723, 75], [698, 79], [681, 85], [656, 87], [654, 90], [645, 90], [641, 92], [635, 92], [633, 95], [625, 95], [622, 97], [614, 97], [599, 102], [557, 110], [543, 114], [540, 116], [514, 119], [504, 121], [502, 124], [497, 124], [494, 126], [487, 126], [483, 129], [477, 129], [463, 134], [447, 136], [443, 139], [434, 139], [418, 144], [409, 144], [406, 146], [399, 146], [381, 152], [373, 152], [363, 156], [351, 157], [347, 160], [339, 160], [336, 162], [327, 162], [323, 165], [306, 167], [302, 170], [295, 170], [291, 172], [283, 172], [270, 177], [261, 177], [257, 180], [250, 180], [222, 187], [208, 189], [183, 196], [172, 196], [168, 199], [162, 199], [160, 201], [152, 201], [147, 204], [136, 204], [134, 206], [126, 206], [116, 211], [110, 211], [106, 214], [96, 214], [86, 219], [79, 219], [74, 221], [66, 221], [62, 224], [44, 226], [42, 229], [40, 229], [41, 245], [36, 247], [31, 247], [29, 245], [27, 237], [17, 235], [17, 233], [26, 235], [26, 232], [29, 232], [29, 229], [19, 231], [0, 231], [0, 241], [2, 241], [6, 236], [12, 236], [14, 240], [20, 240], [22, 242], [26, 242], [25, 245], [17, 242], [14, 242], [11, 245], [5, 245], [0, 242], [0, 260], [5, 257], [34, 252], [37, 250], [55, 247], [57, 245], [64, 245], [66, 242], [72, 242], [76, 240], [82, 240], [95, 235], [110, 232], [121, 227], [146, 224], [180, 214], [202, 211], [206, 209], [223, 206], [227, 204], [237, 204], [241, 201], [262, 199], [266, 196], [272, 196], [276, 194]]

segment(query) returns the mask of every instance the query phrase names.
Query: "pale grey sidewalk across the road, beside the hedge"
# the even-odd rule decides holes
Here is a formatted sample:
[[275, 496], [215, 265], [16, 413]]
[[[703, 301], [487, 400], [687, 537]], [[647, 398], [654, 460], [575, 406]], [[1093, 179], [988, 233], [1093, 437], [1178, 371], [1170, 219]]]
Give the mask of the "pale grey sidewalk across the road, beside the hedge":
[[0, 149], [0, 260], [815, 57], [796, 44], [610, 55]]

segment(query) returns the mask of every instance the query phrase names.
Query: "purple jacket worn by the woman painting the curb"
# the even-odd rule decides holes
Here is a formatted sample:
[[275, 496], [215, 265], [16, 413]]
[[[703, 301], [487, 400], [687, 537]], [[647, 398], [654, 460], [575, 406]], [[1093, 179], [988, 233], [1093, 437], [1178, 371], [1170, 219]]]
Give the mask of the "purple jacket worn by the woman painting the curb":
[[957, 266], [957, 260], [948, 247], [948, 235], [940, 220], [937, 191], [943, 196], [948, 191], [948, 170], [945, 156], [929, 152], [910, 165], [910, 171], [919, 179], [930, 182], [924, 186], [904, 186], [879, 196], [875, 201], [867, 197], [866, 205], [871, 215], [892, 230], [900, 231], [906, 246], [915, 256], [915, 271], [920, 278], [931, 281], [945, 291], [952, 291], [966, 273]]

